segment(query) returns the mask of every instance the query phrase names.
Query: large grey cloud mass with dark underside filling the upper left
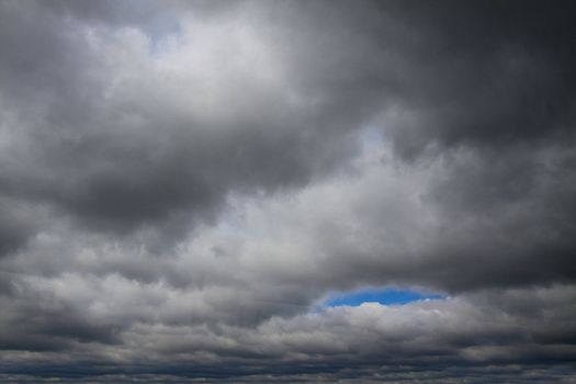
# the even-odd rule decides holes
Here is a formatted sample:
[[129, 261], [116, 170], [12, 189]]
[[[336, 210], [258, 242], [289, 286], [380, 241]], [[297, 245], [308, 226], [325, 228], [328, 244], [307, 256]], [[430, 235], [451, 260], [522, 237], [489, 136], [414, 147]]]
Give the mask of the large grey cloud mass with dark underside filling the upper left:
[[[177, 100], [158, 99], [162, 97], [154, 93], [155, 87], [166, 77], [174, 87], [185, 78], [123, 61], [149, 59], [138, 44], [151, 43], [139, 30], [118, 36], [93, 26], [112, 34], [117, 46], [108, 52], [91, 44], [89, 26], [58, 13], [38, 19], [42, 10], [32, 5], [4, 4], [13, 25], [3, 26], [9, 54], [2, 82], [19, 145], [10, 153], [16, 160], [3, 172], [7, 193], [54, 204], [90, 227], [122, 231], [161, 225], [183, 216], [183, 210], [188, 217], [210, 218], [233, 189], [275, 191], [302, 184], [353, 148], [341, 135], [315, 132], [340, 125], [336, 118], [326, 121], [306, 108], [291, 111], [281, 90], [262, 88], [258, 78], [244, 72], [249, 67], [227, 69], [229, 84], [211, 86], [229, 93], [231, 104], [224, 100], [216, 115], [194, 116], [185, 106], [190, 99], [194, 109], [194, 99], [202, 97], [195, 95], [194, 82], [183, 94], [168, 87], [166, 98], [184, 98], [181, 108], [174, 106]], [[219, 38], [217, 43], [242, 43], [233, 35]], [[133, 49], [127, 57], [114, 52], [124, 49], [123, 44]], [[219, 54], [206, 49], [200, 54]], [[222, 59], [234, 59], [226, 55]], [[108, 69], [118, 66], [128, 74], [115, 80]], [[199, 76], [211, 70], [199, 68]], [[11, 90], [15, 98], [9, 101]]]

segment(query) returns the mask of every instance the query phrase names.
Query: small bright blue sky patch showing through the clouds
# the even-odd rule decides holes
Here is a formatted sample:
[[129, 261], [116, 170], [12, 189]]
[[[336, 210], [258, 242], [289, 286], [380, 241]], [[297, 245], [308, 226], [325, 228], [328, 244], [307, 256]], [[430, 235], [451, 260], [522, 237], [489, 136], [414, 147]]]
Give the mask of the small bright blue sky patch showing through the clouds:
[[380, 303], [383, 305], [403, 305], [421, 300], [441, 300], [441, 294], [420, 293], [410, 290], [363, 290], [332, 295], [325, 303], [328, 307], [342, 305], [359, 306], [363, 303]]

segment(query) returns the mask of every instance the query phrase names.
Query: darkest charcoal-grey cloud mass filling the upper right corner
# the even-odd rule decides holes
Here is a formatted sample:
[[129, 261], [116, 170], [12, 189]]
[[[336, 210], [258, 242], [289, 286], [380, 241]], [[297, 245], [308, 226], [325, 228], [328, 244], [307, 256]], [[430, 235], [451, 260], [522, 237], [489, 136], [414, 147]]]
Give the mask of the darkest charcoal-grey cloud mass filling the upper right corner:
[[504, 150], [573, 133], [568, 2], [545, 9], [534, 1], [285, 8], [271, 13], [287, 24], [281, 38], [289, 39], [287, 60], [306, 94], [335, 106], [346, 100], [348, 111], [361, 108], [366, 116], [402, 114], [382, 126], [403, 158], [434, 146]]

